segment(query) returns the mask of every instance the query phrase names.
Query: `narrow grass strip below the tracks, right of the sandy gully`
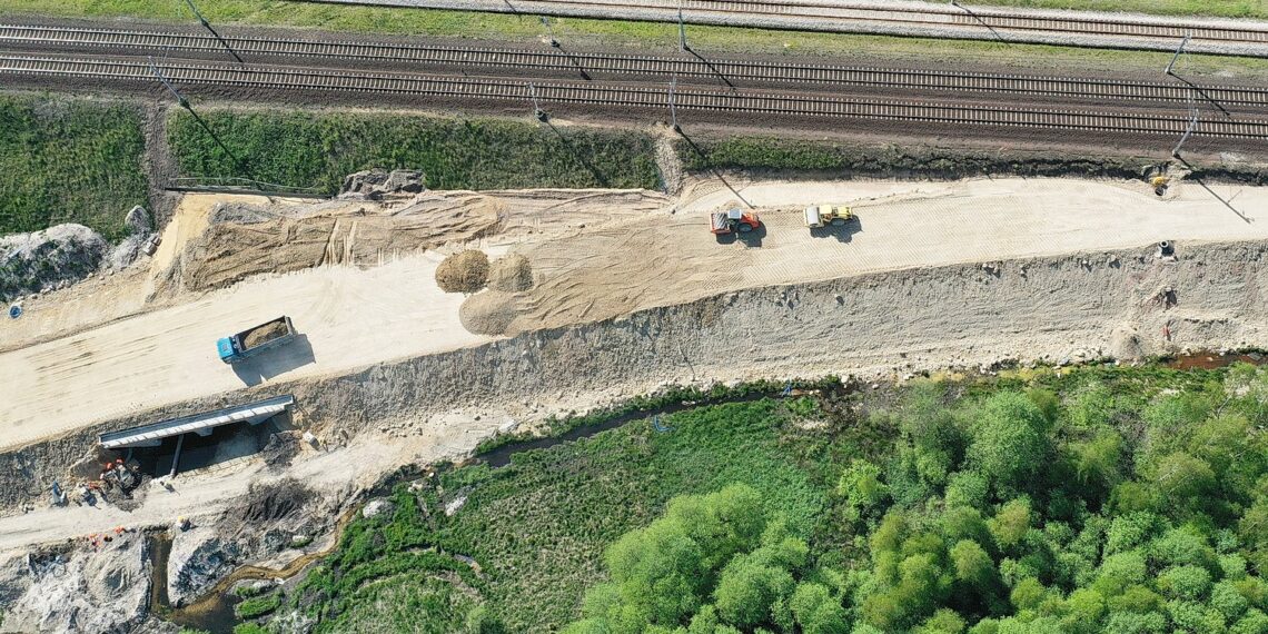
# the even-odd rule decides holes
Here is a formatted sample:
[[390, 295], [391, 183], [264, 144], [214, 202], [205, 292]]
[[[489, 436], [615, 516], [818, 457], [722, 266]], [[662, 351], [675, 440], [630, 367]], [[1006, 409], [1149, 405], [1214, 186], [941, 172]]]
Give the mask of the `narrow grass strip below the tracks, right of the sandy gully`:
[[[737, 170], [752, 172], [848, 174], [856, 176], [915, 176], [956, 179], [980, 175], [1140, 178], [1159, 157], [1073, 156], [1052, 151], [1008, 150], [984, 152], [928, 146], [860, 145], [760, 136], [699, 137], [695, 146], [676, 145], [682, 166], [691, 172]], [[1194, 160], [1196, 178], [1268, 184], [1259, 166], [1203, 165]]]

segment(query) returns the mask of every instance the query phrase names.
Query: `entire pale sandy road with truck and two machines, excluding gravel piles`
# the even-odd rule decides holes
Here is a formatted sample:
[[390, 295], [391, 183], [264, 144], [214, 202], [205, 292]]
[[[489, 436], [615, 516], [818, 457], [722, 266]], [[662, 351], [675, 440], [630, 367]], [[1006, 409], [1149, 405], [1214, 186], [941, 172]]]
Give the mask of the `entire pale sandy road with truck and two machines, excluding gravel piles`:
[[[1161, 238], [1268, 237], [1262, 222], [1268, 188], [1212, 188], [1260, 221], [1246, 223], [1197, 184], [1182, 184], [1163, 200], [1139, 183], [1073, 179], [732, 185], [762, 208], [761, 246], [718, 243], [708, 233], [705, 213], [737, 198], [718, 183], [689, 188], [661, 210], [643, 200], [640, 213], [597, 226], [488, 240], [491, 251], [526, 254], [536, 271], [538, 287], [519, 297], [515, 330], [879, 270], [1094, 252]], [[810, 235], [798, 208], [815, 202], [851, 203], [860, 222], [843, 233]], [[577, 218], [568, 204], [548, 207]], [[488, 341], [462, 327], [463, 295], [436, 288], [439, 260], [429, 252], [366, 270], [322, 266], [255, 278], [0, 354], [0, 449], [260, 380], [340, 374]], [[113, 314], [108, 306], [100, 313], [103, 321]], [[289, 314], [306, 341], [237, 373], [217, 359], [216, 339], [278, 314]]]

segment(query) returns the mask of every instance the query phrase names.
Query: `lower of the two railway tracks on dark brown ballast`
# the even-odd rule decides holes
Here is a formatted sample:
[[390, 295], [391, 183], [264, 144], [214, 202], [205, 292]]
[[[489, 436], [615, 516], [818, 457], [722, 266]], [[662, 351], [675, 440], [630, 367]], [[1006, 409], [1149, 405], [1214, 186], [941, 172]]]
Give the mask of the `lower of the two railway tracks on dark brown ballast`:
[[[668, 110], [668, 90], [620, 84], [545, 81], [384, 74], [366, 71], [250, 67], [210, 63], [166, 63], [164, 75], [179, 86], [261, 90], [341, 91], [399, 96], [495, 100], [527, 105], [534, 93], [544, 105], [585, 105]], [[0, 56], [0, 75], [108, 80], [153, 84], [146, 62], [71, 57]], [[995, 126], [1127, 134], [1178, 136], [1188, 119], [1183, 114], [1136, 114], [1056, 108], [964, 105], [913, 99], [855, 99], [775, 91], [681, 89], [673, 94], [678, 110], [741, 115], [813, 117], [921, 122], [951, 126]], [[1205, 119], [1194, 136], [1231, 139], [1268, 139], [1268, 119]]]

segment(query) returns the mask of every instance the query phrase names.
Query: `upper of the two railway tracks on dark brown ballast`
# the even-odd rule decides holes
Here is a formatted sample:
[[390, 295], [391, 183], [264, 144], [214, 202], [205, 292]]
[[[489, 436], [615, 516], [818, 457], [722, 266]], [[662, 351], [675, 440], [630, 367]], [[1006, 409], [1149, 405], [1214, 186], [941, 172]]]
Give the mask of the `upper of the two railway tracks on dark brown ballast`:
[[1182, 85], [1178, 82], [1111, 81], [1078, 77], [994, 75], [961, 71], [869, 68], [822, 63], [756, 62], [694, 56], [635, 56], [571, 53], [555, 49], [464, 48], [377, 42], [332, 42], [298, 38], [228, 37], [151, 30], [84, 29], [0, 24], [0, 47], [53, 47], [136, 55], [224, 55], [228, 44], [240, 56], [301, 58], [306, 63], [340, 66], [354, 62], [392, 61], [431, 66], [497, 70], [535, 70], [583, 75], [725, 79], [753, 84], [818, 84], [841, 87], [881, 87], [957, 93], [1008, 93], [1083, 100], [1188, 101], [1194, 98], [1224, 107], [1268, 108], [1268, 89], [1250, 86]]

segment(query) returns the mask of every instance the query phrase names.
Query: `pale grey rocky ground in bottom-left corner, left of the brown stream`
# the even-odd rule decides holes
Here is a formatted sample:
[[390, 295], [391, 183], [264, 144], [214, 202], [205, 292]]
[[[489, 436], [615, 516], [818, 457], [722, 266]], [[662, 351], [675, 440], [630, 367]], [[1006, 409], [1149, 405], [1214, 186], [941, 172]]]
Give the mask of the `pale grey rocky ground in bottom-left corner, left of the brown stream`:
[[96, 549], [15, 557], [0, 566], [0, 588], [8, 595], [3, 631], [129, 631], [148, 610], [145, 535], [112, 534]]

